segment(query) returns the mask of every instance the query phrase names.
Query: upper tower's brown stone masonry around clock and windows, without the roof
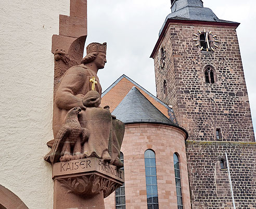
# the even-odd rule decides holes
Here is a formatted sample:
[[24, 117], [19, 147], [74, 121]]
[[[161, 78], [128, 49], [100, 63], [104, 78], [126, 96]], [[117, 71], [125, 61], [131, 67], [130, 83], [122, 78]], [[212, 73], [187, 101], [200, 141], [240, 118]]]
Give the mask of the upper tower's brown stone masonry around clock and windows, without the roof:
[[[193, 41], [197, 30], [217, 35], [213, 53], [200, 51]], [[249, 99], [235, 27], [170, 23], [160, 47], [165, 50], [165, 66], [155, 55], [157, 96], [172, 105], [181, 126], [191, 140], [215, 140], [221, 128], [226, 141], [254, 141]], [[159, 47], [159, 48], [160, 48]], [[217, 82], [207, 84], [203, 68], [211, 64]], [[164, 98], [163, 81], [168, 96]]]

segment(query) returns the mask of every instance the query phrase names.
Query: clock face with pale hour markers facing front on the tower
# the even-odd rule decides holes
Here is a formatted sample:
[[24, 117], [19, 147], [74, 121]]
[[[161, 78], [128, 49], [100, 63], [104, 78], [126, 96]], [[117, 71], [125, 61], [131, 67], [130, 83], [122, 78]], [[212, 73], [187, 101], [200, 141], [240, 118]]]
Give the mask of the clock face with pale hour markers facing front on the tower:
[[217, 43], [217, 35], [214, 35], [212, 31], [208, 32], [204, 29], [202, 32], [198, 30], [197, 33], [194, 33], [196, 36], [194, 41], [196, 42], [196, 46], [200, 48], [201, 51], [215, 51], [218, 47]]

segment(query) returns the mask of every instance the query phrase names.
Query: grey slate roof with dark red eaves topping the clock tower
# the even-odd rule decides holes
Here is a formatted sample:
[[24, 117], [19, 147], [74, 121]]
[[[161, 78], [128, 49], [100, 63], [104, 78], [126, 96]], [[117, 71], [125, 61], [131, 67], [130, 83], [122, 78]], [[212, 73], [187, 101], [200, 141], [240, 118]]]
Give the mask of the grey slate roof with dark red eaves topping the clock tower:
[[168, 19], [237, 23], [217, 18], [210, 8], [203, 7], [201, 0], [176, 0], [172, 4], [172, 13], [165, 19], [159, 35]]

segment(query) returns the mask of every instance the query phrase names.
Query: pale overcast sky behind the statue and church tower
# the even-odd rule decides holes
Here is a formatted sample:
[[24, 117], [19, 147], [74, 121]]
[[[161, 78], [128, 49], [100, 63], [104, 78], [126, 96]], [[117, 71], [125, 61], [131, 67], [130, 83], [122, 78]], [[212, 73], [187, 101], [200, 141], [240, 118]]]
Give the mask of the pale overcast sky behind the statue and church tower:
[[[103, 91], [122, 74], [156, 95], [153, 59], [149, 58], [162, 24], [171, 13], [170, 0], [87, 0], [88, 36], [107, 42], [107, 64], [98, 73]], [[256, 131], [256, 3], [255, 0], [203, 0], [219, 19], [240, 22], [237, 35]]]

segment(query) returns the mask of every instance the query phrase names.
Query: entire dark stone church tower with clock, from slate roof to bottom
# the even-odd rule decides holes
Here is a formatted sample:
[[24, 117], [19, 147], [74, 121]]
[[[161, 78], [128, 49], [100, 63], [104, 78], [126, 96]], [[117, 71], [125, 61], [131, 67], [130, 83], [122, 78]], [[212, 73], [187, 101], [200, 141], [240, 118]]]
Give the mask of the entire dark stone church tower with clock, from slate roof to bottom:
[[[255, 139], [236, 28], [201, 0], [171, 0], [152, 51], [157, 97], [172, 106], [186, 142], [191, 206], [256, 208]], [[247, 191], [245, 191], [247, 190]], [[246, 206], [247, 205], [247, 206]]]

